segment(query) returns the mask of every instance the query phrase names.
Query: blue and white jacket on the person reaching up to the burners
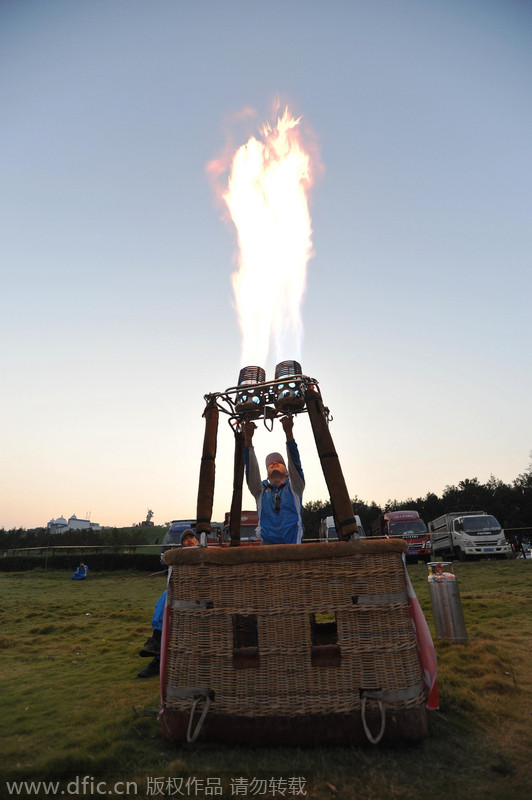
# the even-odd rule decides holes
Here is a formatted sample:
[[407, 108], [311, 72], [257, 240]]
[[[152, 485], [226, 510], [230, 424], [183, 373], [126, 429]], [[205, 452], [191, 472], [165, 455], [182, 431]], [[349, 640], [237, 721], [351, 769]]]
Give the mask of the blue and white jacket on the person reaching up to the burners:
[[261, 480], [254, 447], [244, 448], [249, 491], [257, 502], [257, 535], [264, 544], [299, 544], [303, 538], [301, 508], [305, 477], [295, 441], [286, 443], [288, 477], [275, 486]]

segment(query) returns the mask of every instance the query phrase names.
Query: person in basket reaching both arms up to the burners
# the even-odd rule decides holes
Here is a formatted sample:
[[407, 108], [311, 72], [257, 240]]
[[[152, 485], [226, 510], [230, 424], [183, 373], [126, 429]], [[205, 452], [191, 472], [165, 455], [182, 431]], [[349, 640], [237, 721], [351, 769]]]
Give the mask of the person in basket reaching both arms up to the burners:
[[299, 544], [304, 532], [301, 509], [305, 476], [294, 440], [293, 417], [282, 417], [281, 424], [286, 435], [288, 467], [280, 453], [270, 453], [266, 457], [266, 480], [261, 479], [253, 447], [257, 426], [251, 421], [244, 424], [246, 482], [257, 503], [257, 534], [262, 544]]

